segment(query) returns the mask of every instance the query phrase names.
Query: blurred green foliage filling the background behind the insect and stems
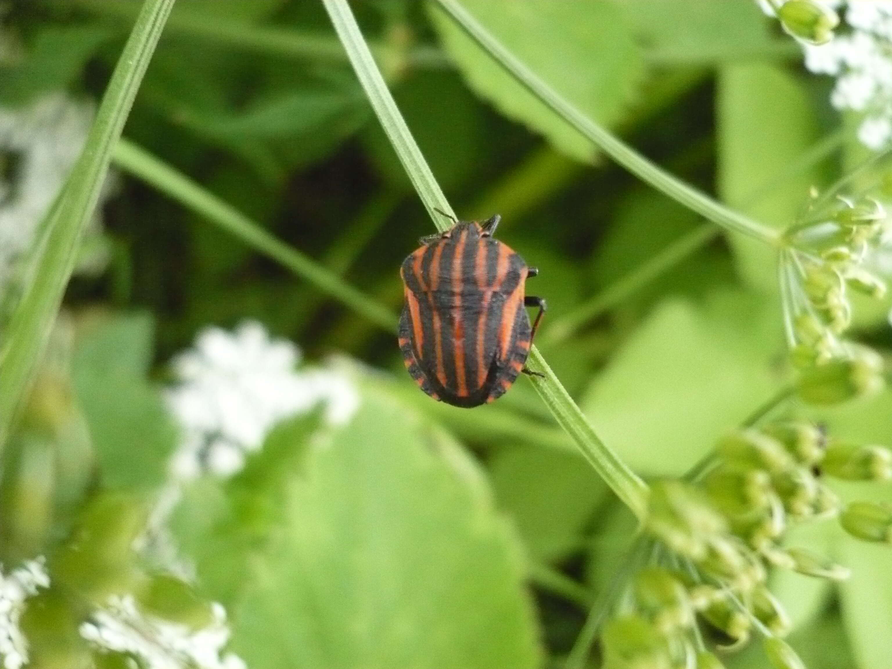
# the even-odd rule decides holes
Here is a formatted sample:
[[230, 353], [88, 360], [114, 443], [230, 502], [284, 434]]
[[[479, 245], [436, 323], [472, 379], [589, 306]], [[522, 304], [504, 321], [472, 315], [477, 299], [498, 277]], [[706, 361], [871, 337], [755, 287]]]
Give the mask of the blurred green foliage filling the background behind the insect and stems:
[[[779, 176], [840, 121], [826, 82], [805, 75], [795, 45], [750, 0], [464, 4], [583, 111], [766, 224], [789, 224], [808, 187], [860, 153], [853, 143], [841, 161]], [[500, 238], [541, 269], [530, 290], [549, 317], [702, 224], [604, 161], [424, 3], [353, 7], [456, 211], [510, 212]], [[60, 88], [98, 98], [138, 4], [0, 8], [12, 44], [0, 103], [16, 106]], [[399, 310], [399, 264], [433, 228], [320, 3], [178, 0], [125, 135]], [[79, 585], [87, 599], [124, 587], [71, 558], [72, 528], [115, 502], [141, 508], [163, 481], [177, 438], [159, 390], [165, 363], [202, 326], [256, 318], [310, 358], [345, 352], [385, 375], [365, 375], [350, 425], [279, 425], [244, 472], [196, 483], [178, 508], [196, 591], [227, 606], [248, 665], [533, 667], [566, 655], [586, 613], [579, 599], [607, 588], [634, 524], [529, 384], [473, 415], [434, 406], [411, 387], [390, 333], [164, 194], [120, 178], [103, 215], [110, 265], [71, 283], [68, 363], [35, 391], [64, 401], [52, 429], [24, 422], [4, 454], [0, 560], [71, 563], [62, 593], [45, 596], [46, 620], [68, 615], [54, 618], [64, 607], [53, 598]], [[717, 236], [572, 337], [549, 346], [546, 335], [543, 352], [628, 464], [681, 475], [788, 379], [774, 272], [771, 250]], [[859, 309], [856, 323], [888, 354], [886, 310]], [[887, 393], [812, 415], [846, 438], [889, 443], [890, 410]], [[132, 540], [112, 525], [98, 523], [97, 536]], [[796, 574], [777, 583], [791, 644], [812, 669], [885, 667], [892, 553], [829, 527], [808, 541], [854, 575], [836, 589]], [[128, 572], [127, 587], [144, 578]], [[35, 634], [44, 665], [73, 657]], [[728, 664], [755, 668], [764, 656]]]

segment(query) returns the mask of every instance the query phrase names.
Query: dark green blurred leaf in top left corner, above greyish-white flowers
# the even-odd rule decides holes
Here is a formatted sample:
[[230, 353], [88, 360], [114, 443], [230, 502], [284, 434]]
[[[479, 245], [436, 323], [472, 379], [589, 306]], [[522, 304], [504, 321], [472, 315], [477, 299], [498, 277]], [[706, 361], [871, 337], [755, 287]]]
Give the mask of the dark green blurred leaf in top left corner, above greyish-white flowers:
[[67, 88], [115, 32], [93, 25], [41, 27], [21, 63], [0, 68], [0, 100], [21, 104], [41, 93]]

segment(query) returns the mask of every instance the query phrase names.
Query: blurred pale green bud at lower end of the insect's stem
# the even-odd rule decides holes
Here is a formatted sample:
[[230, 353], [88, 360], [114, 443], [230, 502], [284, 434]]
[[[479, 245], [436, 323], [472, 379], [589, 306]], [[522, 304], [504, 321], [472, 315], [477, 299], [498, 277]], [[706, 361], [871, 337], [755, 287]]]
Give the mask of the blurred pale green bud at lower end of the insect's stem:
[[708, 541], [726, 530], [702, 493], [680, 481], [651, 486], [645, 526], [668, 548], [693, 559], [705, 556]]

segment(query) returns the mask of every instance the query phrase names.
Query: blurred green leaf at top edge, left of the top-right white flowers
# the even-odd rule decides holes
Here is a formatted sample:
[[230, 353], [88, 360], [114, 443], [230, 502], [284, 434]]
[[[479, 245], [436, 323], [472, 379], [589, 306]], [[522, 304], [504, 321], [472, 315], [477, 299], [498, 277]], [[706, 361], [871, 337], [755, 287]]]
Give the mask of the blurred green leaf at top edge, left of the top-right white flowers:
[[[699, 63], [751, 58], [778, 45], [752, 0], [613, 0], [648, 58]], [[683, 18], [682, 18], [683, 17]]]

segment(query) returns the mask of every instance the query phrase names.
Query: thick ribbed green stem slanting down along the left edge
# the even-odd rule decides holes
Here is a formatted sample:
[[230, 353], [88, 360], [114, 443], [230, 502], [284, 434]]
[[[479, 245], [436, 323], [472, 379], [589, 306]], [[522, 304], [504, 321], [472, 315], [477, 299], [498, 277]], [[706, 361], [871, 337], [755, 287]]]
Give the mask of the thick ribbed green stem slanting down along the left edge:
[[174, 0], [145, 0], [111, 75], [87, 143], [62, 194], [41, 226], [30, 260], [29, 281], [12, 311], [0, 344], [0, 449], [28, 392], [53, 329], [78, 246], [93, 217], [118, 141], [145, 69], [161, 37]]

